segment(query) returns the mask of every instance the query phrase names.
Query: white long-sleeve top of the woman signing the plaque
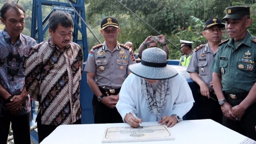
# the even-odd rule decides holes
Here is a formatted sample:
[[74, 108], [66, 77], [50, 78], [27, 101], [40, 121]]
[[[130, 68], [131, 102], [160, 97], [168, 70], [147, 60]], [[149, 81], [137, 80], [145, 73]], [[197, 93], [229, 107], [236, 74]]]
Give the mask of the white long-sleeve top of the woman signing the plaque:
[[174, 78], [169, 79], [169, 97], [163, 110], [155, 115], [148, 109], [148, 104], [142, 92], [142, 84], [139, 76], [130, 74], [119, 93], [119, 100], [116, 108], [123, 120], [126, 114], [134, 112], [143, 122], [156, 122], [161, 120], [163, 116], [171, 116], [176, 114], [182, 118], [193, 106], [194, 98], [188, 82], [178, 74]]

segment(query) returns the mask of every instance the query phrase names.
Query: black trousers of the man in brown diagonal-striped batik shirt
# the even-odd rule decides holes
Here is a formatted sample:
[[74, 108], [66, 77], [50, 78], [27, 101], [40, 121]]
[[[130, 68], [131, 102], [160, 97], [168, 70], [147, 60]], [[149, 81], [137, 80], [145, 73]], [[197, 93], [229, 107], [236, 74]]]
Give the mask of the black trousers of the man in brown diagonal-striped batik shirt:
[[[44, 140], [44, 138], [49, 136], [58, 126], [42, 124], [40, 112], [37, 114], [36, 120], [37, 120], [38, 142], [40, 143], [42, 142], [42, 140]], [[73, 124], [81, 124], [81, 118], [76, 122], [74, 122]]]

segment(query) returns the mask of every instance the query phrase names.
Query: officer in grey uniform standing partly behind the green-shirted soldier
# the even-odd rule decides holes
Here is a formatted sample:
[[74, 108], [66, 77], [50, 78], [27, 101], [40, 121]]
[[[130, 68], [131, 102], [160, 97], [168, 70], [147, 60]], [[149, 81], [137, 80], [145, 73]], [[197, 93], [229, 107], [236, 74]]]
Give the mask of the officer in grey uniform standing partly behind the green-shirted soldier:
[[209, 70], [222, 40], [225, 25], [218, 18], [210, 18], [204, 24], [203, 36], [207, 44], [196, 47], [187, 68], [190, 78], [200, 87], [198, 103], [200, 119], [212, 119], [222, 123], [222, 111], [212, 88], [212, 71]]

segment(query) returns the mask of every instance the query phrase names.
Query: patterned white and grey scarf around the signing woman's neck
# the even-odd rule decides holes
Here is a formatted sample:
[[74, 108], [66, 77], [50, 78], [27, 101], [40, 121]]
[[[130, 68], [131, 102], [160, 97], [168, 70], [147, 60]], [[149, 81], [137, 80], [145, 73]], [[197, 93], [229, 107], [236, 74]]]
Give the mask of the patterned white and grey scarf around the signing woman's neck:
[[158, 114], [164, 108], [166, 100], [169, 96], [169, 79], [159, 80], [156, 92], [152, 85], [145, 78], [140, 78], [142, 84], [142, 92], [148, 103], [148, 109], [152, 114]]

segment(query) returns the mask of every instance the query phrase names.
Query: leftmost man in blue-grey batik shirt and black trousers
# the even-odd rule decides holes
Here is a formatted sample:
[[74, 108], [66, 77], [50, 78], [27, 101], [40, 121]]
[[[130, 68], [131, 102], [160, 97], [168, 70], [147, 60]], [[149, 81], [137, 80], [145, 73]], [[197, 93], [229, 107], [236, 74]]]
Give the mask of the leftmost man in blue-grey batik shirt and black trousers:
[[0, 10], [0, 144], [6, 144], [12, 123], [15, 144], [30, 144], [30, 101], [25, 88], [24, 57], [36, 40], [21, 34], [25, 10], [6, 2]]

